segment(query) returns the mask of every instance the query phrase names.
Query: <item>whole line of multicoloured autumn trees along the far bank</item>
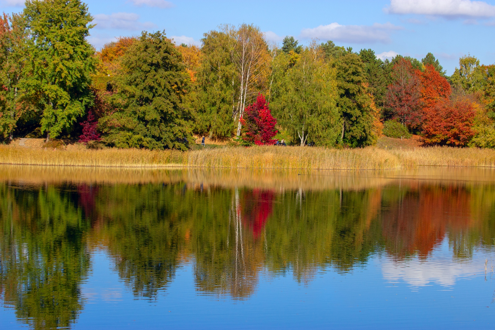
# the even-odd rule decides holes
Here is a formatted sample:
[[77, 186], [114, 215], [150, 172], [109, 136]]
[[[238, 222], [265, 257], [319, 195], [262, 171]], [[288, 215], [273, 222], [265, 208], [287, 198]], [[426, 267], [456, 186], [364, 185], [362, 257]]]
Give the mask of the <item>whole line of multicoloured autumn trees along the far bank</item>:
[[0, 18], [0, 136], [79, 138], [186, 150], [193, 136], [362, 147], [383, 125], [426, 144], [495, 147], [495, 65], [471, 55], [446, 76], [432, 53], [381, 60], [332, 41], [270, 44], [259, 27], [221, 25], [201, 46], [164, 32], [96, 51], [79, 0], [28, 0]]

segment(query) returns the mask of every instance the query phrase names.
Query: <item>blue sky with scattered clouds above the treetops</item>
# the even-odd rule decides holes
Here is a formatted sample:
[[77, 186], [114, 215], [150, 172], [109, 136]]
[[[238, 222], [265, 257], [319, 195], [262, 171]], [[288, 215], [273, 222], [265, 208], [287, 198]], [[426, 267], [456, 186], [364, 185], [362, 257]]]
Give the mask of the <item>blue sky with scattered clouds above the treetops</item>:
[[[354, 50], [372, 48], [421, 59], [431, 51], [451, 74], [460, 56], [495, 62], [495, 0], [194, 1], [86, 0], [97, 27], [89, 41], [99, 49], [118, 36], [165, 30], [178, 43], [200, 44], [220, 24], [254, 23], [266, 38], [312, 38]], [[23, 0], [0, 0], [0, 10], [18, 12]]]

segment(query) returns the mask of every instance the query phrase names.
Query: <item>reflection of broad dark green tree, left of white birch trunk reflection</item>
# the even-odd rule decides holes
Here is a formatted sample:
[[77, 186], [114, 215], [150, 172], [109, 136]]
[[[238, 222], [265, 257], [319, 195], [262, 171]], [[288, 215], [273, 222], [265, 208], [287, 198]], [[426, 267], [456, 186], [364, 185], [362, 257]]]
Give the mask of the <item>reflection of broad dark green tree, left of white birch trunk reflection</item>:
[[105, 220], [98, 235], [108, 240], [119, 275], [135, 294], [150, 298], [175, 274], [184, 215], [195, 207], [193, 196], [182, 190], [180, 185], [99, 187], [97, 208]]

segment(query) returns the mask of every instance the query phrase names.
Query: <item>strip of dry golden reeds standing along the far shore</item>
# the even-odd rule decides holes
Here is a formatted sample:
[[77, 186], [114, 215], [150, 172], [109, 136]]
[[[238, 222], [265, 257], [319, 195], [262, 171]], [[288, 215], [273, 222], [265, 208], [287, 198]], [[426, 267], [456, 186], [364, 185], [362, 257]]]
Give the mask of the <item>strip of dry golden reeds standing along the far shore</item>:
[[225, 147], [181, 152], [144, 149], [53, 150], [0, 145], [0, 163], [101, 167], [208, 167], [261, 169], [392, 170], [418, 166], [495, 167], [495, 150], [427, 147]]

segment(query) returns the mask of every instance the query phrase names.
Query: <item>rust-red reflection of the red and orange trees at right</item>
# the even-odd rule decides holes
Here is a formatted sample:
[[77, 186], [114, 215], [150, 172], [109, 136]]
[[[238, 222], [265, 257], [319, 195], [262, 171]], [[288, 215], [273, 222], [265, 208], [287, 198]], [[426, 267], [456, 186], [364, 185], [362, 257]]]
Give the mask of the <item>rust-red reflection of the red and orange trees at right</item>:
[[426, 257], [445, 237], [471, 220], [470, 195], [463, 187], [419, 186], [382, 214], [387, 249]]

